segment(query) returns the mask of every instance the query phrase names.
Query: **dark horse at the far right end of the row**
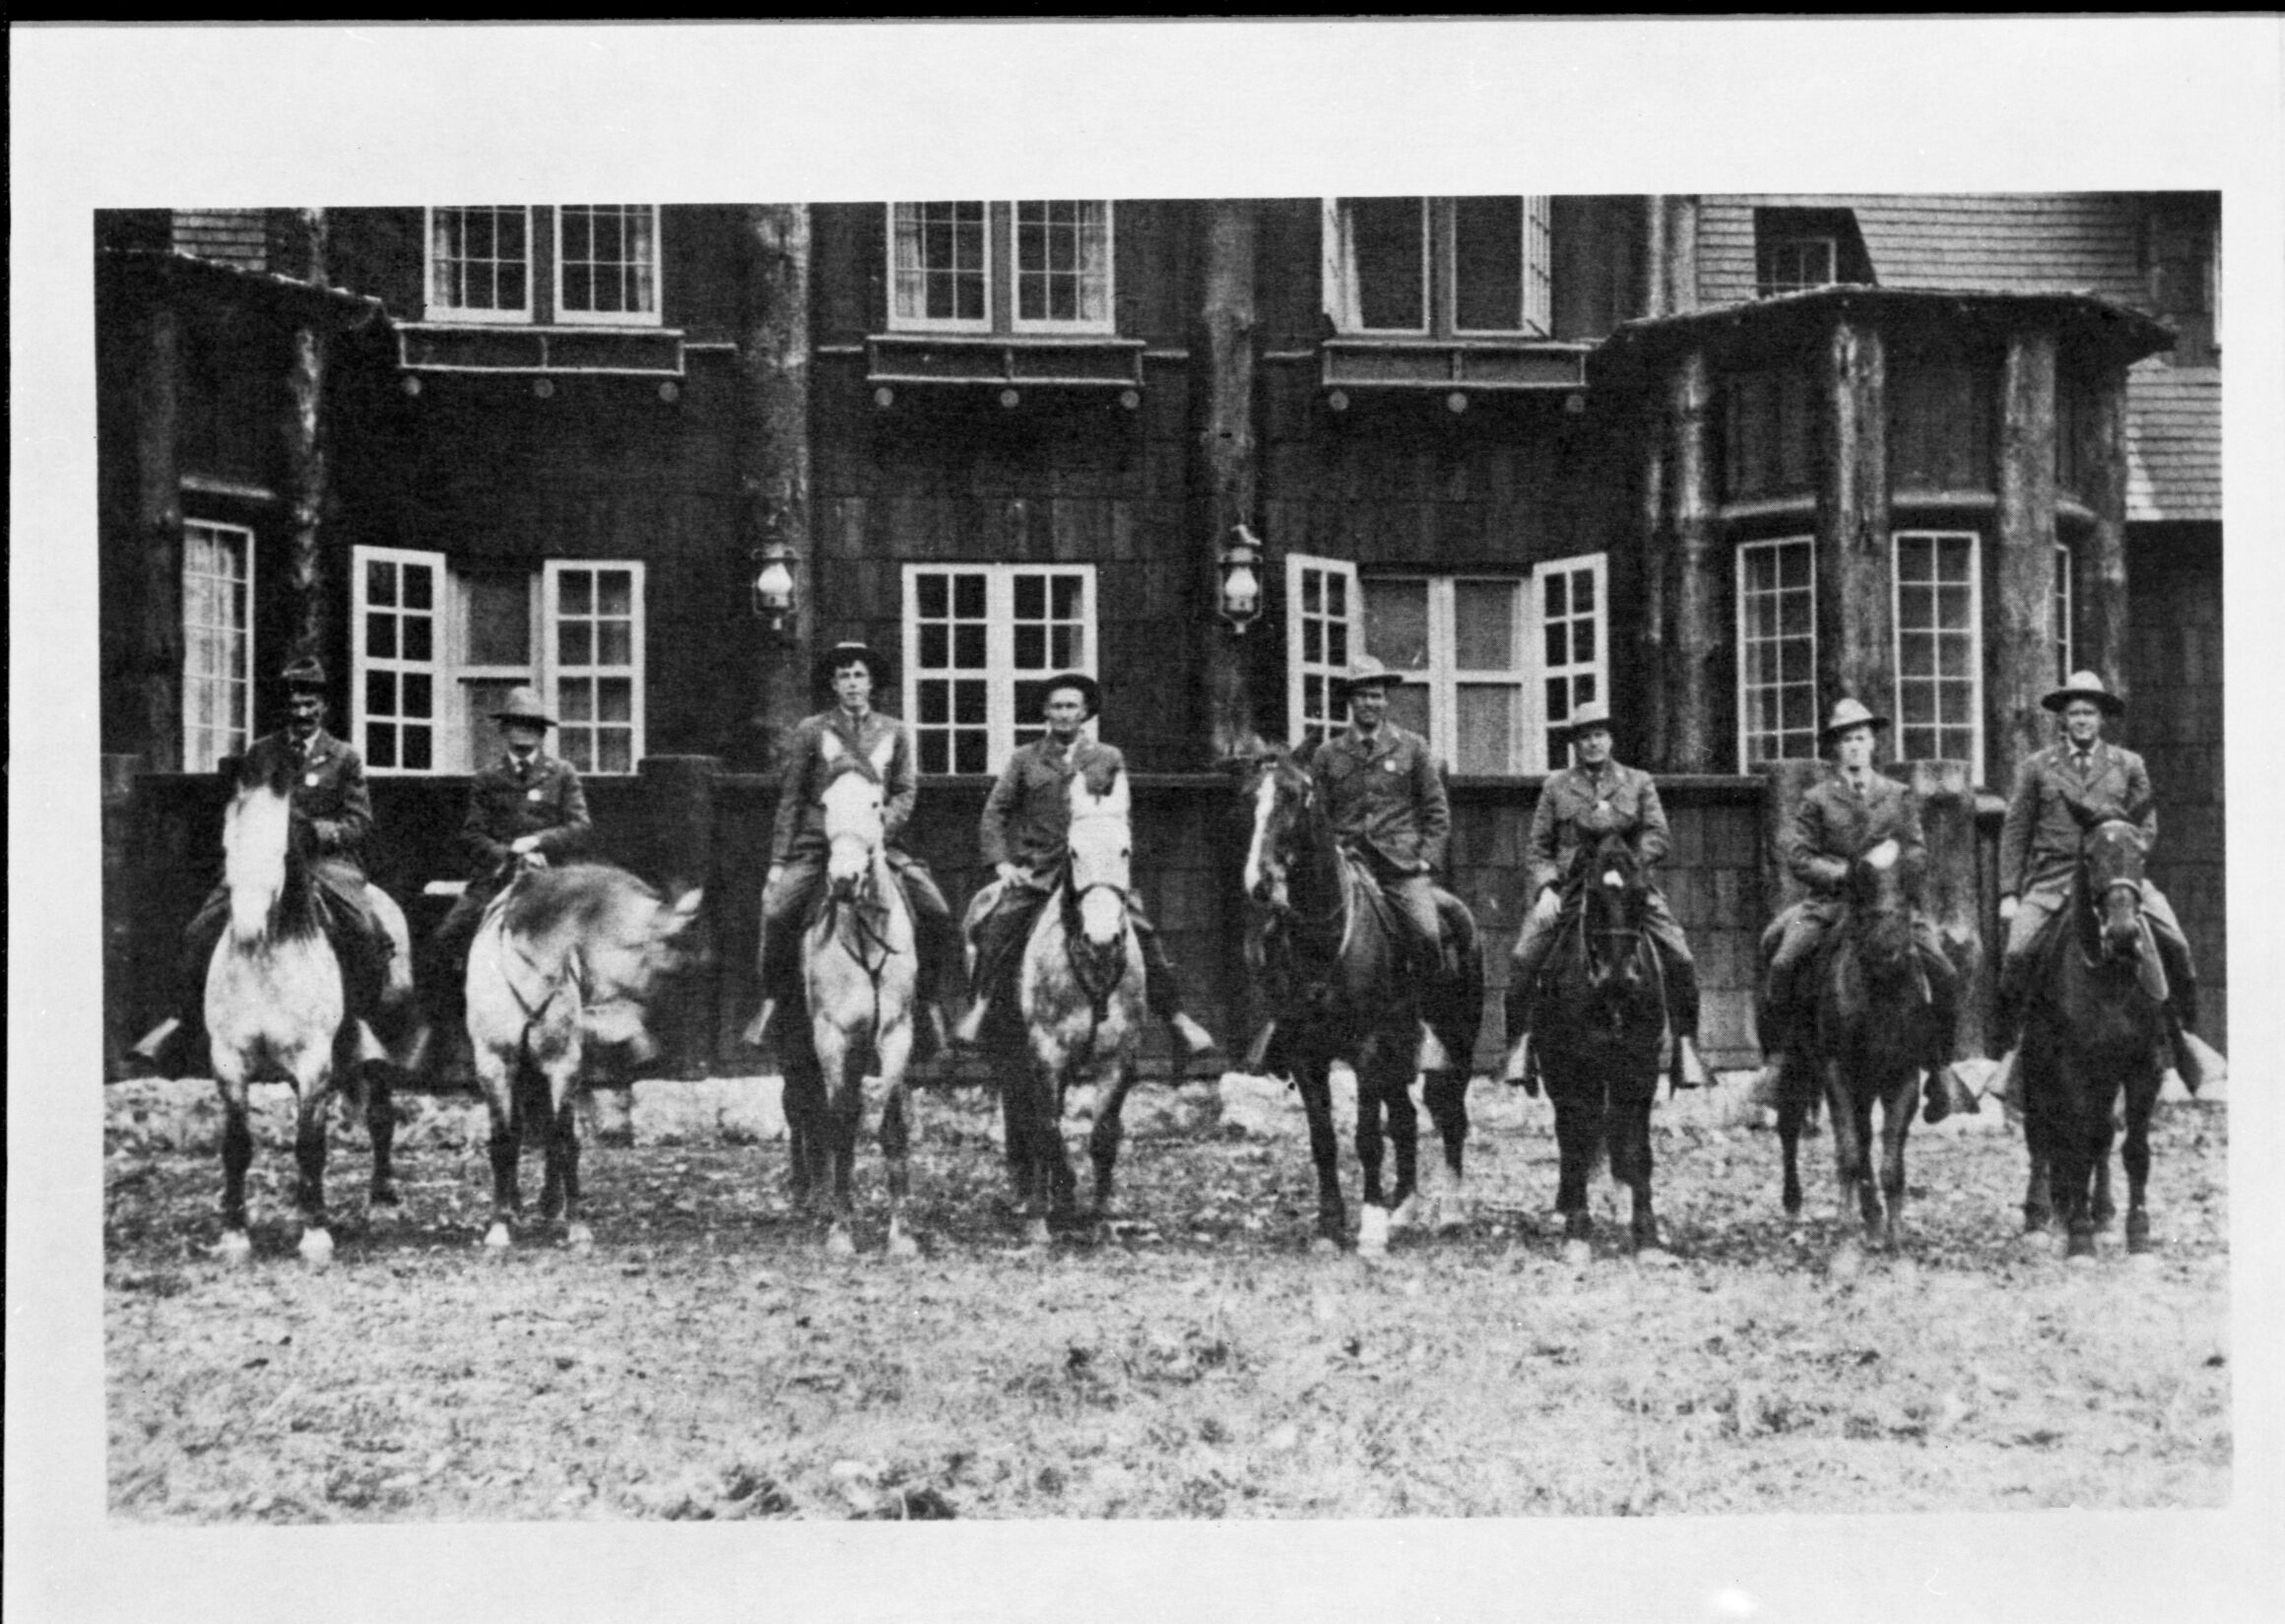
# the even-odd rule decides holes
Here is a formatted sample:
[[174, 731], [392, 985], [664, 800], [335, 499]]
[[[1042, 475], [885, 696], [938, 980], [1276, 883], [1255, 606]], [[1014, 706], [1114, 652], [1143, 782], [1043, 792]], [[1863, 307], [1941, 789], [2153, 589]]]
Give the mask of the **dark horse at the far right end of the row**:
[[2141, 916], [2143, 847], [2132, 820], [2093, 820], [2070, 905], [2029, 980], [2022, 1026], [2025, 1229], [2059, 1211], [2070, 1256], [2114, 1217], [2111, 1117], [2125, 1092], [2127, 1252], [2150, 1249], [2150, 1110], [2164, 1076], [2166, 1010]]

